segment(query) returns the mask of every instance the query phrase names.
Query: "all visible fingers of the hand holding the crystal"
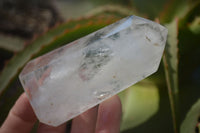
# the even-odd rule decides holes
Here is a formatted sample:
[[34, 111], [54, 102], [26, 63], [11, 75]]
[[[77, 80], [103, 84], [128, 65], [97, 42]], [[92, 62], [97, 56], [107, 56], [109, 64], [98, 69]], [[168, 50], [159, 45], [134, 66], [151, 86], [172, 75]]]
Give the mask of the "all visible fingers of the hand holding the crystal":
[[[113, 96], [72, 120], [71, 133], [119, 133], [122, 105]], [[30, 133], [37, 118], [23, 93], [10, 110], [0, 133]], [[65, 133], [66, 123], [51, 127], [40, 123], [37, 133]]]

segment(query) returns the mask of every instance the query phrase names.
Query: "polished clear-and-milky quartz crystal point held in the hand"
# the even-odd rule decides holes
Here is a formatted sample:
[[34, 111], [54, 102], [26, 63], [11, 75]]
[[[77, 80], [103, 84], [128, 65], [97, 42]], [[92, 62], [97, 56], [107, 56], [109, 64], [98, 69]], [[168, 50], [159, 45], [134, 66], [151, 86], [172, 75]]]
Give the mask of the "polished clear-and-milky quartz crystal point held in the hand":
[[28, 62], [20, 81], [38, 119], [58, 126], [156, 72], [166, 38], [129, 16]]

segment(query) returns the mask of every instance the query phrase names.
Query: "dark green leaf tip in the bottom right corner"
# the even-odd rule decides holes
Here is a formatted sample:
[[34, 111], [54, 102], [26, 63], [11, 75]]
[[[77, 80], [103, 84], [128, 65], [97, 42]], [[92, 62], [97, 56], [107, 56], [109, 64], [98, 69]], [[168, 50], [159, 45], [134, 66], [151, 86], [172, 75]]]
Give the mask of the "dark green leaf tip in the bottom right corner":
[[192, 106], [181, 125], [181, 133], [199, 133], [200, 99]]

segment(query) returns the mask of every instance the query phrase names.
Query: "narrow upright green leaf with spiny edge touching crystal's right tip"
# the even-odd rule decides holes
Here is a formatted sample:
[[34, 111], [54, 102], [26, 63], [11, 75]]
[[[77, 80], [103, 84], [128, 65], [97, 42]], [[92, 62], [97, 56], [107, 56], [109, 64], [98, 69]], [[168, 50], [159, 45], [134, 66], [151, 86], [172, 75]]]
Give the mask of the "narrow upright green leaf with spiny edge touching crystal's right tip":
[[178, 19], [165, 25], [168, 28], [167, 45], [163, 56], [165, 77], [175, 133], [178, 131]]

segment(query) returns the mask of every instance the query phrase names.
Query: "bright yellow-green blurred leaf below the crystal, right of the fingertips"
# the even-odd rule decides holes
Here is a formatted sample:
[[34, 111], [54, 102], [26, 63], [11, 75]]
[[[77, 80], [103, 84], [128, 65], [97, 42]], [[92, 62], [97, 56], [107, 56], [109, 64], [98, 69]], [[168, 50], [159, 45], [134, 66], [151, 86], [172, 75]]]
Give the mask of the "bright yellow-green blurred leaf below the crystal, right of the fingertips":
[[141, 81], [119, 96], [123, 111], [121, 131], [144, 123], [158, 111], [159, 92], [152, 82]]

